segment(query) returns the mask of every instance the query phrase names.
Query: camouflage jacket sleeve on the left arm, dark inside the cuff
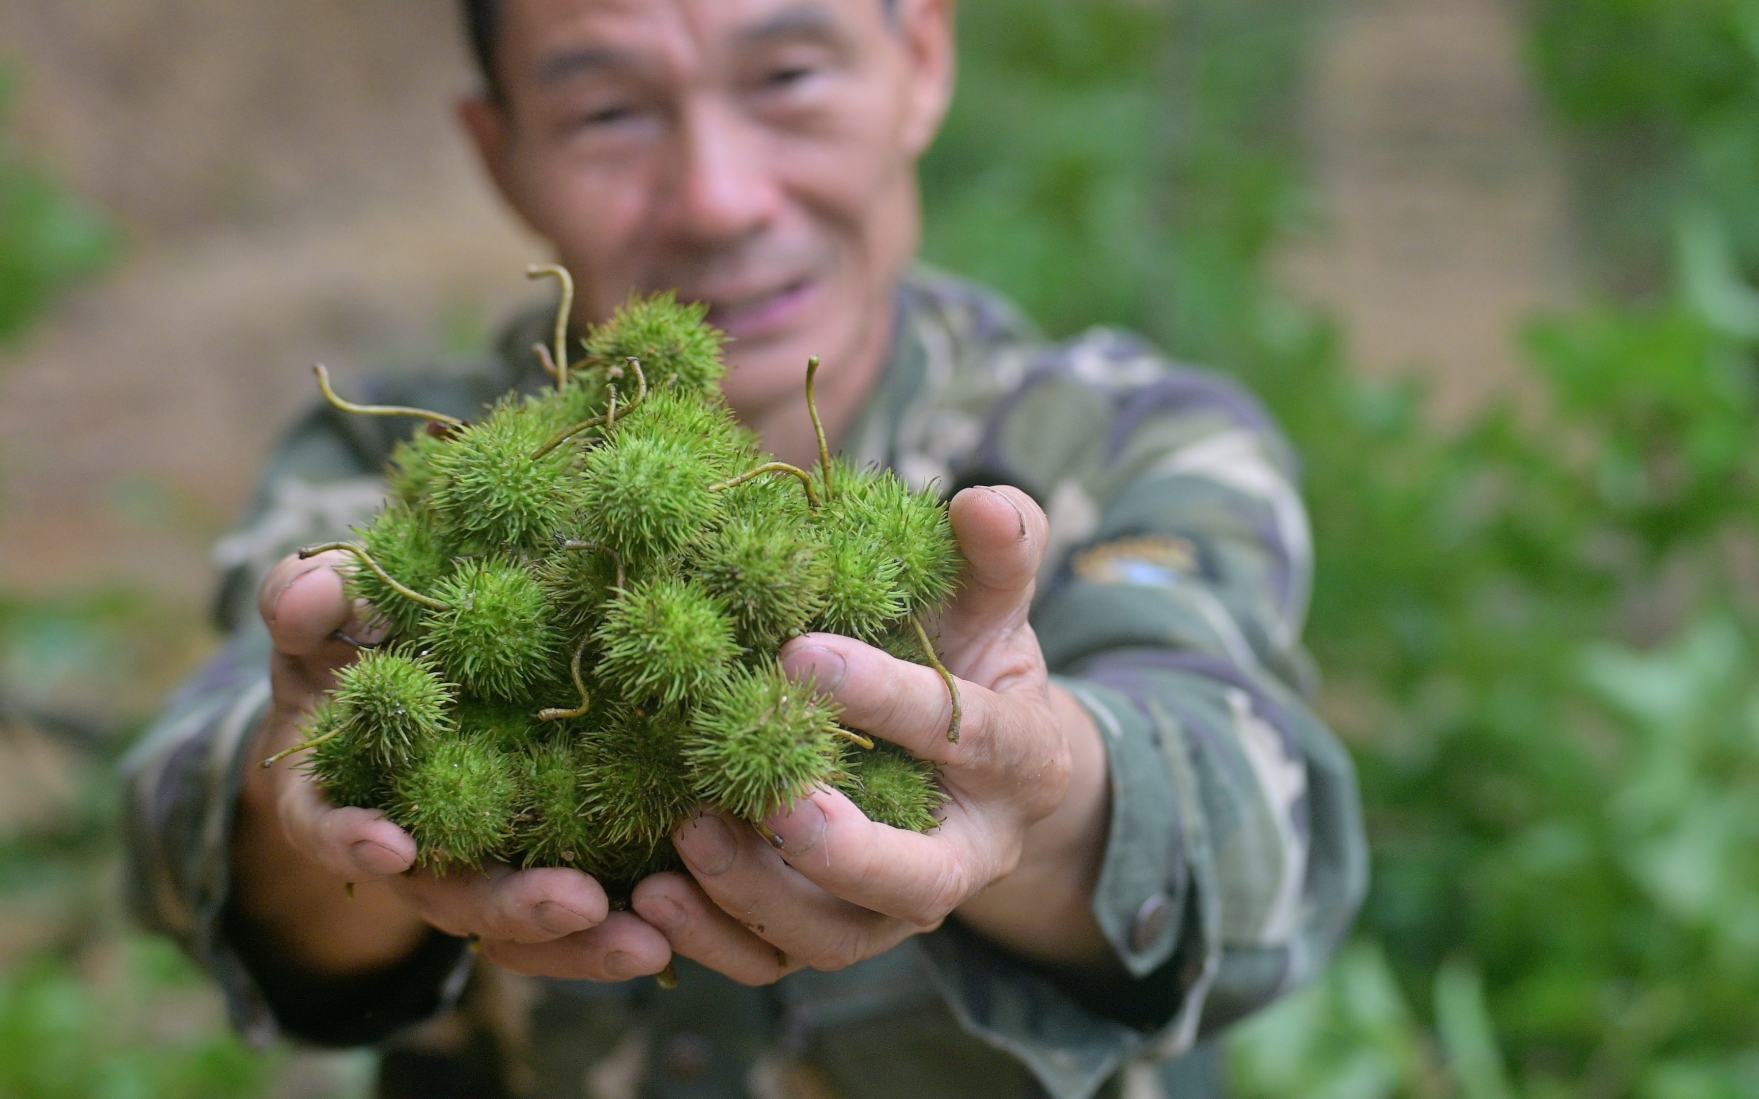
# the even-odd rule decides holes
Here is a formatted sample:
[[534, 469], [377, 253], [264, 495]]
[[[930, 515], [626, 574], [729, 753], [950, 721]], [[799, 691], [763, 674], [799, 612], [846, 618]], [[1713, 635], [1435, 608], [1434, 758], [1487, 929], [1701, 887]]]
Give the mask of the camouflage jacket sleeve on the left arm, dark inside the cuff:
[[[427, 397], [470, 415], [478, 387], [438, 394], [387, 389], [368, 399]], [[457, 392], [452, 392], [457, 390]], [[403, 424], [401, 429], [408, 429]], [[234, 1025], [253, 1043], [287, 1036], [366, 1044], [456, 999], [468, 955], [434, 935], [396, 971], [313, 979], [276, 964], [229, 906], [232, 825], [243, 768], [269, 707], [269, 633], [257, 614], [262, 577], [301, 545], [347, 538], [383, 503], [378, 475], [398, 427], [318, 410], [273, 457], [245, 524], [223, 538], [218, 617], [227, 644], [169, 702], [123, 760], [127, 893], [150, 930], [172, 935], [225, 992]]]

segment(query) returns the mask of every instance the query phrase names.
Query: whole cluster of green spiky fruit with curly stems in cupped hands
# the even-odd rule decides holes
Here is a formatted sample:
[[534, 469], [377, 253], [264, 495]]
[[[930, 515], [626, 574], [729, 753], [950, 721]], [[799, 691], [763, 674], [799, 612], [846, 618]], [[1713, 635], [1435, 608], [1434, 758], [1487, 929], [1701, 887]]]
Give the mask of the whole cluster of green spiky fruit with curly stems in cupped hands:
[[424, 865], [568, 865], [619, 890], [677, 865], [700, 804], [762, 828], [834, 786], [932, 828], [932, 765], [841, 728], [776, 652], [828, 630], [929, 663], [957, 737], [920, 619], [962, 564], [945, 505], [834, 461], [821, 431], [816, 469], [762, 455], [721, 397], [721, 336], [672, 295], [631, 297], [570, 368], [570, 281], [535, 273], [565, 290], [542, 396], [464, 424], [348, 404], [320, 368], [339, 408], [429, 424], [359, 542], [304, 550], [354, 554], [350, 594], [387, 630], [313, 714], [304, 765]]

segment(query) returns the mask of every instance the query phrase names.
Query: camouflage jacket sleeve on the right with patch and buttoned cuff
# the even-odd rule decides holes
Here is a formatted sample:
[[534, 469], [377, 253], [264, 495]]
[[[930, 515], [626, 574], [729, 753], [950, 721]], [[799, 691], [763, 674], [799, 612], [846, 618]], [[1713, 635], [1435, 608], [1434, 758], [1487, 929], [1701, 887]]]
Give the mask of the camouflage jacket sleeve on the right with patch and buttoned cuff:
[[1105, 735], [1092, 904], [1128, 979], [1084, 995], [957, 927], [925, 948], [969, 1030], [1080, 1099], [1298, 986], [1361, 902], [1354, 774], [1305, 702], [1307, 515], [1249, 394], [1106, 331], [1024, 373], [960, 480], [1050, 515], [1033, 622]]

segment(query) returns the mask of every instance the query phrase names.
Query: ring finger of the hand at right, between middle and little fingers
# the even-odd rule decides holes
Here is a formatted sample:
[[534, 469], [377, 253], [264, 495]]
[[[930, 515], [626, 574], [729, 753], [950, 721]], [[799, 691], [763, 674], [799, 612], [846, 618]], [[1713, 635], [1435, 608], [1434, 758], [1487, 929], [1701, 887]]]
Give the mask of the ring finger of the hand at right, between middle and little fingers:
[[674, 844], [702, 892], [753, 935], [813, 969], [843, 969], [892, 948], [911, 928], [839, 900], [802, 877], [749, 825], [702, 814]]

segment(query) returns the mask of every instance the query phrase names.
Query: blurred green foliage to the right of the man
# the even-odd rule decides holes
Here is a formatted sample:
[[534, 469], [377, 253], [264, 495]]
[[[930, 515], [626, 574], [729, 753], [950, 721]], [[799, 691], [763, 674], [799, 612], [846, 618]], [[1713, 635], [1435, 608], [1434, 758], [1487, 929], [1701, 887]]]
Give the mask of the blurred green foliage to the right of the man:
[[[931, 257], [1237, 371], [1307, 461], [1376, 876], [1330, 974], [1235, 1037], [1244, 1095], [1759, 1095], [1755, 12], [1529, 5], [1562, 134], [1648, 158], [1583, 190], [1675, 246], [1609, 280], [1645, 299], [1530, 327], [1532, 401], [1442, 434], [1266, 278], [1310, 209], [1312, 5], [966, 7]], [[1094, 65], [1071, 21], [1128, 30]]]

